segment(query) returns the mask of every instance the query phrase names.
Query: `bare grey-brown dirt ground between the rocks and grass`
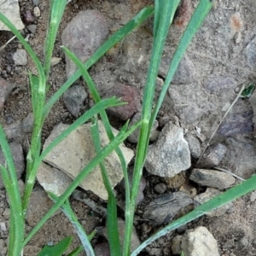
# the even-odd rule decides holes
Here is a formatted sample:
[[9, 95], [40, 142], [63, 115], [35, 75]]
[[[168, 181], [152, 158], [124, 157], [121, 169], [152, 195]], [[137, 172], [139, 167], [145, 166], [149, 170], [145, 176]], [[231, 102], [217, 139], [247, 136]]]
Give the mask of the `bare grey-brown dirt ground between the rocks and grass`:
[[[34, 8], [32, 1], [20, 0], [19, 3], [21, 16], [24, 16], [27, 10], [32, 11]], [[66, 80], [65, 56], [59, 47], [61, 45], [61, 32], [67, 26], [67, 23], [72, 20], [80, 10], [97, 9], [101, 11], [108, 17], [110, 22], [110, 32], [113, 32], [120, 26], [124, 25], [125, 22], [131, 19], [133, 15], [136, 15], [143, 6], [151, 3], [152, 1], [149, 0], [73, 0], [69, 3], [63, 20], [61, 21], [60, 31], [58, 33], [54, 49], [53, 55], [55, 57], [60, 57], [61, 61], [55, 67], [52, 67], [49, 78], [49, 84], [51, 85], [49, 96], [52, 96]], [[197, 1], [191, 0], [192, 9], [195, 8], [196, 3]], [[36, 18], [37, 31], [33, 37], [29, 38], [29, 44], [35, 50], [40, 60], [43, 60], [43, 44], [45, 33], [47, 32], [49, 1], [40, 1], [39, 7], [41, 15], [39, 18]], [[187, 53], [189, 59], [195, 66], [195, 79], [192, 79], [187, 84], [172, 84], [172, 87], [168, 90], [165, 104], [161, 109], [158, 118], [167, 115], [171, 117], [177, 116], [179, 124], [186, 131], [191, 131], [191, 133], [195, 132], [196, 127], [200, 127], [202, 147], [204, 143], [206, 143], [207, 138], [211, 136], [216, 125], [218, 125], [219, 120], [222, 118], [222, 109], [224, 104], [235, 99], [237, 87], [239, 87], [244, 81], [253, 82], [255, 80], [255, 67], [250, 67], [248, 65], [247, 56], [244, 54], [247, 44], [249, 44], [256, 35], [255, 12], [256, 3], [253, 0], [216, 1], [214, 9], [212, 9], [200, 32], [197, 33], [192, 44], [189, 46], [189, 51]], [[240, 15], [238, 15], [238, 18], [237, 13]], [[170, 36], [168, 38], [168, 49], [174, 49], [177, 45], [177, 39], [183, 31], [183, 26], [187, 18], [187, 12], [185, 12], [185, 10], [181, 11], [179, 16], [176, 18], [176, 24], [172, 26]], [[145, 49], [148, 45], [150, 46], [151, 41], [147, 39], [147, 37], [150, 38], [150, 24], [152, 24], [152, 20], [147, 21], [146, 24], [143, 25], [145, 30], [148, 29], [147, 36], [142, 35], [141, 38], [137, 38], [136, 35], [131, 35], [131, 37], [127, 39], [125, 44], [131, 44], [131, 47], [134, 47], [134, 52], [138, 49], [134, 46], [138, 41]], [[240, 36], [241, 38], [239, 38]], [[0, 46], [11, 37], [12, 34], [10, 32], [0, 32]], [[18, 120], [25, 119], [27, 114], [31, 112], [31, 103], [28, 104], [28, 102], [31, 101], [28, 90], [27, 70], [31, 70], [33, 73], [36, 73], [35, 67], [31, 60], [28, 61], [28, 64], [25, 67], [15, 67], [15, 65], [9, 61], [8, 57], [19, 47], [20, 43], [17, 40], [14, 40], [4, 49], [3, 52], [0, 53], [1, 77], [6, 79], [9, 84], [15, 84], [15, 90], [10, 94], [0, 115], [0, 122], [3, 126], [9, 125], [9, 122], [15, 123]], [[131, 52], [131, 58], [132, 55], [133, 53]], [[108, 63], [108, 59], [111, 59], [111, 63]], [[120, 60], [124, 61], [125, 59], [127, 59], [127, 55], [125, 54], [120, 56], [115, 53], [109, 53], [107, 57], [104, 57], [99, 61], [95, 67], [91, 68], [90, 74], [93, 79], [95, 79], [96, 83], [100, 83], [99, 81], [105, 79], [104, 75], [108, 75], [106, 71], [108, 70], [108, 67], [114, 67], [114, 65], [117, 67], [119, 66]], [[11, 72], [3, 72], [9, 65], [12, 67]], [[116, 70], [115, 75], [122, 75], [122, 79], [130, 83], [132, 80], [136, 81], [136, 79], [140, 77], [136, 86], [142, 89], [146, 70], [146, 65], [140, 69], [138, 73], [136, 68], [133, 70], [131, 69], [128, 72], [124, 67], [123, 69], [120, 68], [119, 70]], [[145, 73], [143, 74], [143, 72]], [[208, 90], [209, 87], [205, 84], [211, 84], [212, 80], [217, 81], [217, 84], [221, 84], [222, 78], [232, 78], [234, 84], [231, 84], [228, 88], [219, 87], [218, 89], [214, 87], [218, 87], [218, 85], [213, 84], [211, 86], [216, 90]], [[83, 84], [81, 80], [77, 81], [77, 83]], [[87, 104], [89, 105], [89, 102], [87, 102]], [[245, 112], [249, 112], [251, 116], [249, 119], [241, 120], [239, 118], [239, 114]], [[223, 126], [221, 132], [214, 137], [214, 141], [222, 143], [227, 138], [232, 137], [240, 142], [252, 144], [253, 150], [255, 150], [253, 130], [247, 128], [250, 124], [253, 127], [253, 112], [250, 103], [247, 100], [238, 102], [233, 113], [237, 113], [238, 116], [235, 118], [235, 123], [232, 123], [239, 127], [239, 129], [236, 127], [238, 132], [234, 131], [233, 133], [230, 132], [227, 134]], [[61, 99], [61, 101], [55, 104], [55, 107], [51, 110], [49, 117], [46, 119], [43, 131], [43, 140], [49, 136], [54, 125], [60, 122], [71, 124], [73, 120], [73, 115], [67, 111], [67, 108]], [[119, 128], [120, 121], [117, 119], [111, 120], [113, 121], [113, 126]], [[231, 121], [227, 119], [225, 123], [228, 125], [227, 129], [229, 131], [230, 122]], [[235, 130], [237, 131], [237, 129]], [[20, 133], [13, 138], [13, 140], [22, 144], [25, 154], [27, 153], [27, 141], [29, 139], [30, 136], [26, 133]], [[127, 145], [129, 145], [129, 143]], [[256, 154], [253, 154], [253, 156], [256, 157]], [[229, 160], [226, 160], [226, 162], [233, 167], [241, 166], [242, 169], [242, 166], [250, 166], [250, 164], [243, 163], [242, 161], [243, 160], [239, 157], [237, 157], [237, 162], [233, 162], [231, 164]], [[238, 170], [241, 177], [247, 178], [252, 175], [256, 170], [256, 167], [254, 168], [252, 166], [253, 164], [248, 167], [251, 168], [249, 171], [244, 170], [243, 172], [239, 172]], [[234, 169], [236, 168], [233, 168], [232, 171], [235, 171]], [[160, 182], [166, 183], [164, 178], [149, 175], [147, 172], [144, 173], [144, 177], [146, 178], [147, 183], [144, 191], [145, 198], [143, 203], [137, 209], [136, 218], [137, 233], [142, 241], [153, 234], [155, 230], [160, 228], [160, 226], [151, 224], [148, 221], [143, 221], [142, 216], [143, 209], [147, 205], [148, 201], [158, 196], [154, 192], [154, 185]], [[238, 182], [239, 181], [237, 181], [237, 183]], [[185, 177], [176, 187], [167, 187], [166, 193], [179, 190], [186, 186], [189, 188], [194, 186], [198, 194], [206, 189], [196, 186], [195, 183], [190, 183], [189, 179]], [[4, 189], [0, 190], [0, 198], [0, 221], [8, 223], [9, 205], [6, 201]], [[106, 204], [100, 201], [96, 195], [91, 195], [91, 198], [96, 201], [96, 203], [106, 207]], [[74, 212], [76, 212], [87, 232], [94, 230], [97, 226], [105, 224], [105, 219], [102, 218], [100, 214], [91, 211], [90, 207], [84, 205], [83, 202], [72, 199], [71, 203]], [[231, 207], [223, 216], [213, 218], [202, 217], [195, 222], [188, 224], [186, 228], [192, 229], [199, 225], [206, 226], [218, 241], [219, 253], [222, 256], [253, 256], [256, 255], [255, 210], [256, 201], [253, 201], [250, 198], [250, 195], [246, 195], [235, 201], [233, 207]], [[122, 217], [123, 212], [121, 209], [119, 210], [119, 213]], [[28, 232], [31, 229], [32, 227], [27, 224], [26, 231]], [[24, 255], [36, 255], [40, 248], [46, 243], [55, 243], [56, 241], [60, 241], [61, 238], [70, 235], [74, 236], [73, 245], [71, 247], [72, 249], [79, 245], [79, 238], [73, 232], [72, 225], [68, 223], [68, 220], [63, 213], [57, 214], [55, 217], [50, 218], [49, 221], [44, 224], [44, 227], [38, 231], [36, 236], [32, 238], [25, 249]], [[172, 238], [176, 235], [177, 232], [160, 238], [140, 255], [172, 255]], [[4, 232], [2, 230], [0, 233], [0, 239], [7, 241], [7, 237], [8, 232]], [[102, 241], [105, 241], [105, 238], [100, 235], [96, 235], [92, 244], [96, 245]]]

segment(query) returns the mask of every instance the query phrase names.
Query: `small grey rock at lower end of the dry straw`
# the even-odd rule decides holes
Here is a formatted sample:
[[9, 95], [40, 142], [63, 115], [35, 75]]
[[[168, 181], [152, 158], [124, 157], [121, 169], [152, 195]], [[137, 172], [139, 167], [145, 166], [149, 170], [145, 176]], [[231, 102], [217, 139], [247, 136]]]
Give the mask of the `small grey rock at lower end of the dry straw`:
[[226, 151], [227, 148], [224, 144], [213, 143], [207, 148], [197, 166], [200, 168], [212, 168], [218, 166], [219, 162], [224, 158]]

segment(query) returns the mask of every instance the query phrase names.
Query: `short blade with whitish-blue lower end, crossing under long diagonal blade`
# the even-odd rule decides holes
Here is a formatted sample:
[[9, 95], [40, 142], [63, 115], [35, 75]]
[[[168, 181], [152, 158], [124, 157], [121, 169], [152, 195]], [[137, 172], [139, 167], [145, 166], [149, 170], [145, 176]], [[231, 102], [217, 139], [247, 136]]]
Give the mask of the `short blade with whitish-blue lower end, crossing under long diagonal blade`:
[[[58, 200], [58, 197], [56, 195], [52, 193], [48, 193], [48, 195], [54, 202]], [[69, 219], [70, 223], [73, 224], [73, 227], [76, 230], [76, 233], [80, 238], [80, 241], [82, 242], [86, 256], [95, 256], [93, 248], [90, 244], [90, 239], [86, 235], [83, 226], [79, 223], [78, 218], [75, 216], [75, 213], [73, 212], [68, 200], [65, 201], [65, 203], [61, 206], [61, 210]]]

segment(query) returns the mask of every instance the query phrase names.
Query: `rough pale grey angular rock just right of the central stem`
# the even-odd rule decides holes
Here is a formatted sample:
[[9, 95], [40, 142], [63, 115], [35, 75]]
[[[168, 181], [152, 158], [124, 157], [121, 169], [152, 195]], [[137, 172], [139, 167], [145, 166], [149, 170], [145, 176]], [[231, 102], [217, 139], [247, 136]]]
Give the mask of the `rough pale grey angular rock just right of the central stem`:
[[173, 177], [190, 165], [189, 145], [183, 138], [183, 129], [168, 122], [158, 141], [148, 147], [145, 168], [160, 177]]

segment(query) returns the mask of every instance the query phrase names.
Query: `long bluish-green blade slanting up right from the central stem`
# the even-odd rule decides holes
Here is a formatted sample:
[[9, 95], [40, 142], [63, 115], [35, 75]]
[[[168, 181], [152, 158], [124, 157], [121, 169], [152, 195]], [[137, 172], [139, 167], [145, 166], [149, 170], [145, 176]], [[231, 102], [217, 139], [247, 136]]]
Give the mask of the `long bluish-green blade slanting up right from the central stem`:
[[213, 3], [211, 0], [201, 0], [201, 2], [198, 3], [191, 19], [189, 20], [189, 24], [186, 27], [186, 30], [183, 32], [183, 36], [180, 39], [180, 42], [177, 45], [177, 49], [173, 55], [172, 63], [170, 65], [169, 71], [166, 75], [165, 83], [163, 84], [162, 90], [160, 92], [160, 97], [158, 99], [158, 102], [154, 108], [154, 112], [150, 119], [150, 124], [149, 124], [150, 127], [154, 124], [156, 115], [160, 110], [161, 104], [164, 101], [164, 97], [166, 96], [166, 91], [168, 90], [168, 88], [172, 82], [172, 78], [177, 70], [177, 66], [178, 66], [179, 62], [183, 58], [183, 54], [184, 54], [185, 50], [188, 48], [192, 38], [195, 36], [195, 33], [201, 27], [201, 24], [205, 20], [210, 9], [212, 9], [212, 4]]

